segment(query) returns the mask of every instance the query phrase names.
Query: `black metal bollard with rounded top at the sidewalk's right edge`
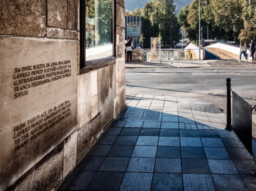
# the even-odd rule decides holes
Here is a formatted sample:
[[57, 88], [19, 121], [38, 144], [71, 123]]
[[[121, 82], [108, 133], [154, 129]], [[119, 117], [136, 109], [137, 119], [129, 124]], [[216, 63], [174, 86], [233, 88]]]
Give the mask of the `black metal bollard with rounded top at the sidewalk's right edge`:
[[231, 111], [231, 79], [227, 78], [227, 125], [226, 130], [232, 131], [232, 111]]

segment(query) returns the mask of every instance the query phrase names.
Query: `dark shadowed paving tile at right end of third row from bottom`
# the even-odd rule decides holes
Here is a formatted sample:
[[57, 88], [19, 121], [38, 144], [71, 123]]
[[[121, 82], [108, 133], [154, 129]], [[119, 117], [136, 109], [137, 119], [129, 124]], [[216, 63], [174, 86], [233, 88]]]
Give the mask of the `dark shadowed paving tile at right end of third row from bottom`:
[[253, 160], [246, 148], [227, 148], [227, 151], [233, 160]]

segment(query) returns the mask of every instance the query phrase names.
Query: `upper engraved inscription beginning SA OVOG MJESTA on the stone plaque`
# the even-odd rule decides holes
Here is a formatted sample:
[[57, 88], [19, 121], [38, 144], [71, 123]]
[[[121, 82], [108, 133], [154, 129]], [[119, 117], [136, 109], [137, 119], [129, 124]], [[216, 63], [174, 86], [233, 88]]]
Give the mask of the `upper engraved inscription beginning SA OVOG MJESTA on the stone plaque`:
[[13, 75], [14, 99], [28, 95], [30, 88], [71, 75], [70, 60], [15, 68]]

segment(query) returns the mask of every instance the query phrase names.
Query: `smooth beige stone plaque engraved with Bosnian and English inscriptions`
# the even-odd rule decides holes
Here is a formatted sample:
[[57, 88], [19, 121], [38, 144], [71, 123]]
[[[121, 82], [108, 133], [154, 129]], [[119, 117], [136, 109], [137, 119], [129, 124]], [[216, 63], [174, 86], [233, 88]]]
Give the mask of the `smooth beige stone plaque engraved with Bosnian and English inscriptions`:
[[76, 48], [72, 40], [0, 38], [0, 182], [11, 185], [76, 130]]

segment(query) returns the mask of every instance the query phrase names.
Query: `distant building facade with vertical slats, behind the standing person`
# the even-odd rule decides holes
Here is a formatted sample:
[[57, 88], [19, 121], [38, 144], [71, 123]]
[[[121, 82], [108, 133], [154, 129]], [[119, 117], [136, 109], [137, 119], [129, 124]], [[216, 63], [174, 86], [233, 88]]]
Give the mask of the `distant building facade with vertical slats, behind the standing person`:
[[131, 39], [134, 43], [134, 46], [141, 46], [141, 34], [141, 17], [125, 16], [125, 40]]

